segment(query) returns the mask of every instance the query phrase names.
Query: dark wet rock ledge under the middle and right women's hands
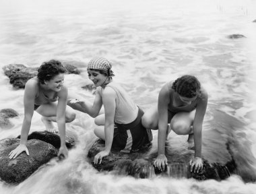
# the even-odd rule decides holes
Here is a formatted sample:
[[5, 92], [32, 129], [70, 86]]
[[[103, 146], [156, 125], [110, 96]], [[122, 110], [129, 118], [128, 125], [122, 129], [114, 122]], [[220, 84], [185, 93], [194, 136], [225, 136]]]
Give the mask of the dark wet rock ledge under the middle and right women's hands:
[[193, 177], [197, 180], [222, 180], [228, 178], [236, 169], [234, 160], [226, 163], [226, 165], [218, 162], [210, 164], [207, 160], [204, 160], [203, 170], [201, 170], [201, 172], [190, 172], [189, 160], [193, 154], [183, 153], [183, 155], [167, 148], [168, 154], [166, 154], [166, 158], [168, 159], [168, 165], [165, 166], [165, 170], [161, 172], [158, 168], [154, 168], [153, 166], [156, 154], [155, 156], [152, 154], [152, 146], [131, 154], [121, 153], [112, 149], [110, 156], [106, 156], [106, 158], [102, 160], [102, 164], [94, 164], [94, 156], [102, 150], [104, 150], [104, 141], [98, 140], [88, 152], [88, 158], [90, 158], [90, 162], [94, 168], [98, 171], [113, 171], [116, 174], [131, 175], [136, 178], [151, 178], [154, 174], [161, 174], [162, 176], [172, 176], [174, 178]]

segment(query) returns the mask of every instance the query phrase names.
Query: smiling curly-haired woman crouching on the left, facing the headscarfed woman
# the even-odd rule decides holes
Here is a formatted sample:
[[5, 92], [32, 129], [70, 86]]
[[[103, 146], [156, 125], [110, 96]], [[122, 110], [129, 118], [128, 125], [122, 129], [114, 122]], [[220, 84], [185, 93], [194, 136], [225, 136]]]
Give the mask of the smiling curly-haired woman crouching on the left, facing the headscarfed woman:
[[20, 145], [9, 153], [9, 158], [16, 158], [22, 152], [29, 155], [26, 147], [28, 133], [34, 110], [42, 115], [42, 122], [46, 130], [54, 132], [53, 121], [57, 122], [61, 137], [61, 147], [58, 156], [67, 157], [65, 146], [65, 122], [75, 119], [75, 113], [71, 108], [66, 108], [67, 88], [63, 86], [65, 69], [61, 62], [51, 60], [42, 63], [38, 69], [37, 77], [29, 79], [24, 92], [24, 120]]

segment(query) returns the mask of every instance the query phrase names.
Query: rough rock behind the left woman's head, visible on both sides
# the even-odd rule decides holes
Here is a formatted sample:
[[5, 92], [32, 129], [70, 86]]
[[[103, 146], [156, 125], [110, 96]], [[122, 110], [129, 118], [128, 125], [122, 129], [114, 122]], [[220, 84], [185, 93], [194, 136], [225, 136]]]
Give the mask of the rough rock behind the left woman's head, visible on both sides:
[[[67, 73], [79, 74], [80, 71], [77, 67], [70, 65], [69, 63], [63, 62]], [[38, 67], [26, 67], [22, 64], [10, 64], [3, 67], [3, 71], [7, 77], [10, 79], [10, 84], [14, 88], [25, 88], [26, 82], [32, 77], [36, 77]]]

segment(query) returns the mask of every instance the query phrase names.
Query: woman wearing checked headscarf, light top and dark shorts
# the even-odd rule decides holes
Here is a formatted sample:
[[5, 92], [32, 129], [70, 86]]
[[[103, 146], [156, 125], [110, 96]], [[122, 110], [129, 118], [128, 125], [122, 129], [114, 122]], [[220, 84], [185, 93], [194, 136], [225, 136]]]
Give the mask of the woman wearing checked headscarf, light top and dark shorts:
[[[135, 152], [152, 139], [151, 131], [142, 126], [143, 111], [134, 104], [127, 92], [113, 81], [112, 65], [103, 57], [96, 57], [88, 63], [88, 76], [98, 87], [94, 104], [74, 100], [71, 107], [96, 117], [98, 125], [94, 133], [105, 141], [105, 149], [94, 156], [94, 163], [101, 164], [102, 158], [108, 156], [111, 147], [121, 152]], [[104, 115], [98, 115], [104, 106]], [[117, 129], [114, 126], [117, 125]]]

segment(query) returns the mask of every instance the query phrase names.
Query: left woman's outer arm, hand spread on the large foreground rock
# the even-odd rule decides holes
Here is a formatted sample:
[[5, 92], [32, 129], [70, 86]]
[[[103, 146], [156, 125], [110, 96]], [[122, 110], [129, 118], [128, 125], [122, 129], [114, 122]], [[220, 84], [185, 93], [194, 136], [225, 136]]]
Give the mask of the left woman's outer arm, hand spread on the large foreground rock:
[[26, 148], [26, 143], [28, 139], [28, 133], [30, 131], [31, 120], [34, 114], [34, 98], [38, 91], [37, 82], [35, 80], [28, 80], [25, 85], [24, 91], [24, 120], [22, 123], [22, 132], [20, 137], [20, 146], [12, 150], [9, 154], [9, 158], [16, 158], [22, 152], [28, 153], [28, 148]]

